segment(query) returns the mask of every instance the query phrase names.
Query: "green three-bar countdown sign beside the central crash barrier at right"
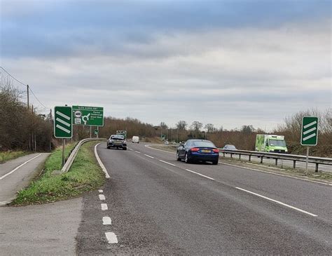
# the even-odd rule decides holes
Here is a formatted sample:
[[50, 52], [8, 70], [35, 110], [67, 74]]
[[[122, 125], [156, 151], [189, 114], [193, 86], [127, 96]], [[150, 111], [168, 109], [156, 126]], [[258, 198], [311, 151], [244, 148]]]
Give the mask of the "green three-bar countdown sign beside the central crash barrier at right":
[[301, 145], [316, 146], [318, 139], [318, 117], [305, 116], [302, 120]]

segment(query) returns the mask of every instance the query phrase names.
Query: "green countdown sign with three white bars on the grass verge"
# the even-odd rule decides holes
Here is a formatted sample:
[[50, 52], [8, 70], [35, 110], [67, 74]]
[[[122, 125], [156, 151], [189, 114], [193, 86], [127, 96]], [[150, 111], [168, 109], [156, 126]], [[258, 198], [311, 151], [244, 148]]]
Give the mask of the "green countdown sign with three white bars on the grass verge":
[[54, 108], [54, 137], [70, 138], [73, 136], [71, 119], [71, 107]]

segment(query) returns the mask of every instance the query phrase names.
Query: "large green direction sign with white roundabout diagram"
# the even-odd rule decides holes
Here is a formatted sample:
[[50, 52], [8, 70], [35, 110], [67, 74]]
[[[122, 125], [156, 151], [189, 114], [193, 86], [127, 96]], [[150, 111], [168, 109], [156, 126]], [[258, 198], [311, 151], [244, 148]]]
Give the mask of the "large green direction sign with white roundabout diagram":
[[104, 126], [104, 108], [73, 106], [73, 124], [81, 126]]

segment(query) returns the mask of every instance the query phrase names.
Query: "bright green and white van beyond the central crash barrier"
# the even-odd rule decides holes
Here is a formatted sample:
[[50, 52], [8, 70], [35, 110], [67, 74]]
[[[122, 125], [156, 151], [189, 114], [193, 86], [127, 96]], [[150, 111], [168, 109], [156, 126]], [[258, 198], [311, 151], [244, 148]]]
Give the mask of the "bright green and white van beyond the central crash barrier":
[[256, 135], [255, 151], [288, 153], [284, 136], [266, 134]]

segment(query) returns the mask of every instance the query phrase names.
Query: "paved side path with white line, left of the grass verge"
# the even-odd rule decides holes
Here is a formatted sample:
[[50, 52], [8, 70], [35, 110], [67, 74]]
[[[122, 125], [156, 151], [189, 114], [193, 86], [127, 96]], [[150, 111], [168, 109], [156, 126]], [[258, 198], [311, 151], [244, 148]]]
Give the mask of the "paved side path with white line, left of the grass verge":
[[29, 154], [0, 164], [0, 206], [10, 203], [20, 189], [29, 185], [48, 155]]

